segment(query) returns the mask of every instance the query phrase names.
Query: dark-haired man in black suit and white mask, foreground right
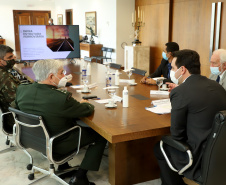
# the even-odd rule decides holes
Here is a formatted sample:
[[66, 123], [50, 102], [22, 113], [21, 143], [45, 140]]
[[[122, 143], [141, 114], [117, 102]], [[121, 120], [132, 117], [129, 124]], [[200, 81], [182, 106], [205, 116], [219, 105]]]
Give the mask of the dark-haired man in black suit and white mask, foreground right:
[[[186, 142], [193, 154], [193, 165], [184, 172], [189, 179], [201, 176], [200, 165], [206, 139], [211, 131], [214, 115], [226, 110], [226, 91], [216, 81], [200, 75], [199, 54], [192, 50], [174, 52], [171, 76], [180, 84], [170, 93], [171, 135], [173, 139]], [[187, 164], [186, 154], [165, 146], [170, 161], [177, 168]], [[159, 143], [154, 153], [161, 171], [162, 185], [183, 185], [182, 176], [172, 171], [163, 157]]]

